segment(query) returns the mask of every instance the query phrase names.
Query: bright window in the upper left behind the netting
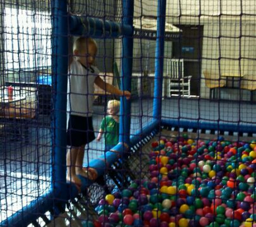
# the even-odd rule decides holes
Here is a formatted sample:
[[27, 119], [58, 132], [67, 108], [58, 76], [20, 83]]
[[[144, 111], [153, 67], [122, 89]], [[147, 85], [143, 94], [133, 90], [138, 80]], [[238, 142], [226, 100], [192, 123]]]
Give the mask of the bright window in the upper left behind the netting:
[[48, 12], [5, 8], [6, 69], [51, 66], [51, 15]]

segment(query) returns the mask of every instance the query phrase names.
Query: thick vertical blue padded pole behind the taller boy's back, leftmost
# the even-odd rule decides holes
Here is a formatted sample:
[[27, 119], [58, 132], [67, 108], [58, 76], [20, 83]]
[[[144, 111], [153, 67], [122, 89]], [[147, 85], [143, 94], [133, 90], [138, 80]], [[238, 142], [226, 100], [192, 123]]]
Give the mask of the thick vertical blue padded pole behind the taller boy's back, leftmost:
[[66, 105], [68, 72], [68, 13], [67, 1], [56, 0], [52, 3], [53, 43], [52, 68], [54, 95], [53, 110], [53, 187], [56, 197], [66, 197]]

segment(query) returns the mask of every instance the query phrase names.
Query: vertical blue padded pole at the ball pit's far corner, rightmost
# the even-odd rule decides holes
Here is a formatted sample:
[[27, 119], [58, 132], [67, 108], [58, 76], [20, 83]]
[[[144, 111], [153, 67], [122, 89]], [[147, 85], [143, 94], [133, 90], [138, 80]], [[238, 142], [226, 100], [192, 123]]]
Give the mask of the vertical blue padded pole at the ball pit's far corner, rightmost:
[[157, 1], [155, 91], [153, 117], [161, 120], [166, 0]]

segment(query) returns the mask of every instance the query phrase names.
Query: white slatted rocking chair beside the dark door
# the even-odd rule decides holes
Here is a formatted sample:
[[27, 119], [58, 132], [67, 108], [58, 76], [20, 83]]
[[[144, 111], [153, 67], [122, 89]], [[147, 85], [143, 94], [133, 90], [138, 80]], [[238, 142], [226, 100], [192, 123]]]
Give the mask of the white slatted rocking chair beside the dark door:
[[167, 96], [178, 93], [190, 97], [190, 81], [192, 76], [184, 76], [184, 60], [167, 60]]

